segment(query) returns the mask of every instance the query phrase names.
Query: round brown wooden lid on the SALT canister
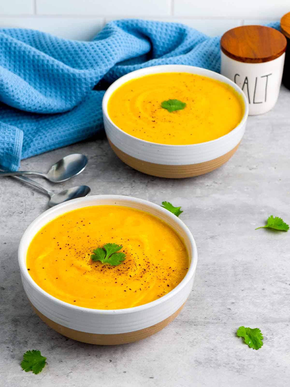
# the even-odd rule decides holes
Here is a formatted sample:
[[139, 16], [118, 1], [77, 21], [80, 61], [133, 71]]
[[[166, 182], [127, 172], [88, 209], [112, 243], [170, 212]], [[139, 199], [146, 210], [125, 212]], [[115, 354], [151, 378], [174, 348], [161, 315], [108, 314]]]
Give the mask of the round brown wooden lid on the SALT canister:
[[276, 59], [286, 50], [287, 40], [274, 28], [264, 26], [235, 27], [223, 34], [222, 52], [239, 62], [262, 63]]

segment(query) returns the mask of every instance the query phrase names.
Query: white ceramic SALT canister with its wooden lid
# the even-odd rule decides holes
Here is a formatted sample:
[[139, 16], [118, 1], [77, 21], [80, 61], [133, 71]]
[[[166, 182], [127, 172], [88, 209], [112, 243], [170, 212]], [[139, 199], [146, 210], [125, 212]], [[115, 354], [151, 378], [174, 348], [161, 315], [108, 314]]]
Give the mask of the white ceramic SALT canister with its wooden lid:
[[244, 91], [250, 115], [266, 113], [275, 105], [286, 46], [285, 36], [270, 27], [241, 26], [223, 34], [220, 72]]

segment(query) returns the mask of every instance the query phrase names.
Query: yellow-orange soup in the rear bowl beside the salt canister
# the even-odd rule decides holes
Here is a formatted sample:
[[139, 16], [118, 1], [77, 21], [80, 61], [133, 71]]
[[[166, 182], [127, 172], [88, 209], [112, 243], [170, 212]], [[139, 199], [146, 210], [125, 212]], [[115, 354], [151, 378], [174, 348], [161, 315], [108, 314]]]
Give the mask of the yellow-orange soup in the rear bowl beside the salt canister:
[[[183, 110], [161, 107], [178, 99]], [[108, 102], [111, 120], [124, 132], [159, 144], [186, 145], [217, 139], [234, 129], [244, 103], [228, 84], [189, 73], [161, 73], [130, 80]]]

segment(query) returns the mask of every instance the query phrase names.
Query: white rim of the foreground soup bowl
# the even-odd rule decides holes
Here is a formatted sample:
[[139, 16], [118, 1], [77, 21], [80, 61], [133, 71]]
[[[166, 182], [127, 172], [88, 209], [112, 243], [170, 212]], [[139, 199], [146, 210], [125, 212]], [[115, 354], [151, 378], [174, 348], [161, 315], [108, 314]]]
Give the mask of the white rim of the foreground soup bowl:
[[[59, 208], [63, 207], [63, 209], [65, 210], [65, 208], [69, 207], [70, 204], [72, 204], [72, 203], [75, 203], [75, 202], [85, 203], [85, 202], [88, 202], [89, 200], [92, 200], [92, 199], [93, 200], [94, 199], [99, 199], [99, 200], [102, 200], [102, 199], [112, 199], [112, 200], [118, 199], [118, 200], [120, 200], [121, 199], [121, 200], [127, 201], [128, 204], [130, 202], [135, 202], [135, 203], [139, 203], [139, 204], [149, 205], [150, 207], [156, 209], [157, 211], [163, 212], [165, 215], [169, 216], [173, 221], [175, 221], [177, 224], [179, 224], [179, 226], [181, 226], [181, 228], [184, 229], [184, 232], [186, 233], [186, 236], [187, 236], [187, 238], [189, 240], [189, 243], [191, 244], [191, 248], [192, 248], [192, 255], [190, 257], [191, 258], [191, 262], [189, 264], [188, 271], [186, 272], [186, 275], [184, 276], [182, 281], [175, 288], [173, 288], [169, 293], [167, 293], [165, 296], [162, 296], [161, 298], [159, 298], [157, 300], [148, 302], [148, 303], [143, 304], [143, 305], [139, 305], [137, 307], [124, 308], [124, 309], [93, 309], [93, 308], [84, 308], [84, 307], [79, 307], [77, 305], [72, 305], [72, 304], [70, 304], [68, 302], [61, 301], [58, 298], [50, 295], [49, 293], [44, 291], [36, 282], [34, 282], [34, 280], [32, 279], [32, 277], [30, 276], [30, 274], [27, 271], [27, 266], [26, 266], [26, 253], [27, 253], [27, 250], [24, 253], [24, 243], [25, 243], [25, 240], [26, 239], [30, 239], [30, 241], [29, 241], [29, 245], [30, 245], [32, 239], [34, 238], [36, 233], [40, 230], [40, 228], [39, 228], [36, 232], [32, 233], [32, 229], [35, 227], [35, 225], [39, 221], [41, 221], [43, 218], [45, 218], [48, 214], [56, 212]], [[109, 205], [109, 204], [107, 204], [107, 205]], [[86, 206], [85, 205], [81, 205], [78, 208], [82, 208], [82, 207], [86, 207]], [[89, 207], [89, 205], [88, 205], [88, 207]], [[130, 205], [128, 205], [128, 206], [124, 205], [124, 207], [130, 207]], [[73, 210], [63, 211], [62, 214], [65, 214], [66, 212], [69, 212], [69, 211], [73, 211]], [[148, 211], [145, 210], [145, 212], [148, 212]], [[60, 215], [61, 214], [58, 214], [57, 216], [55, 216], [55, 218], [60, 216]], [[151, 215], [153, 215], [153, 214], [151, 214]], [[156, 215], [153, 215], [153, 216], [156, 216]], [[53, 219], [55, 219], [55, 218], [53, 218]], [[165, 223], [166, 223], [166, 221], [165, 221]], [[44, 227], [44, 226], [42, 226], [42, 227]], [[175, 229], [174, 229], [174, 231], [175, 231]], [[30, 233], [32, 233], [33, 236], [31, 238], [28, 238], [28, 235]], [[179, 235], [179, 234], [177, 233], [177, 235]], [[181, 235], [179, 235], [179, 237], [182, 239]], [[88, 196], [88, 197], [84, 197], [84, 198], [68, 200], [67, 202], [58, 204], [58, 205], [56, 205], [56, 206], [54, 206], [54, 207], [44, 211], [36, 219], [34, 219], [34, 221], [32, 221], [31, 224], [29, 224], [29, 226], [26, 228], [26, 230], [24, 231], [24, 233], [23, 233], [23, 235], [22, 235], [22, 237], [20, 239], [19, 248], [18, 248], [18, 264], [19, 264], [19, 267], [20, 267], [20, 272], [26, 278], [26, 280], [37, 291], [42, 293], [44, 296], [50, 298], [52, 301], [54, 301], [55, 303], [57, 303], [58, 305], [60, 305], [62, 307], [70, 308], [72, 310], [86, 311], [86, 312], [89, 312], [89, 313], [96, 313], [96, 314], [101, 313], [101, 314], [106, 314], [106, 315], [136, 313], [136, 312], [140, 312], [142, 310], [149, 309], [151, 307], [155, 307], [155, 306], [165, 302], [166, 300], [169, 300], [176, 293], [178, 293], [179, 289], [183, 288], [188, 283], [188, 281], [193, 277], [194, 272], [196, 270], [197, 258], [198, 258], [198, 253], [197, 253], [196, 243], [195, 243], [195, 240], [193, 238], [193, 235], [191, 234], [191, 232], [189, 231], [189, 228], [186, 226], [185, 223], [183, 223], [183, 221], [181, 219], [179, 219], [176, 215], [172, 214], [172, 212], [166, 210], [165, 208], [161, 207], [158, 204], [149, 202], [148, 200], [138, 199], [136, 197], [125, 196], [125, 195], [124, 196], [123, 195], [92, 195], [92, 196]]]

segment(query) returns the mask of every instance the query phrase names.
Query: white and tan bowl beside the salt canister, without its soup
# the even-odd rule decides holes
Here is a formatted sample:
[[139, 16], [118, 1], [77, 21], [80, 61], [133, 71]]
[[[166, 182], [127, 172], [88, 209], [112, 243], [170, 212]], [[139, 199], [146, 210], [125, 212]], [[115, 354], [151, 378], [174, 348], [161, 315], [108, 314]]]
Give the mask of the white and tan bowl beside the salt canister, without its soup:
[[[107, 104], [112, 93], [128, 80], [164, 72], [199, 74], [232, 86], [244, 102], [244, 116], [239, 125], [216, 140], [191, 145], [157, 144], [133, 137], [117, 127], [107, 111]], [[183, 178], [213, 171], [229, 160], [237, 150], [244, 135], [249, 104], [240, 87], [223, 75], [201, 67], [161, 65], [142, 68], [116, 80], [104, 95], [102, 110], [107, 138], [113, 151], [122, 161], [148, 175]]]

